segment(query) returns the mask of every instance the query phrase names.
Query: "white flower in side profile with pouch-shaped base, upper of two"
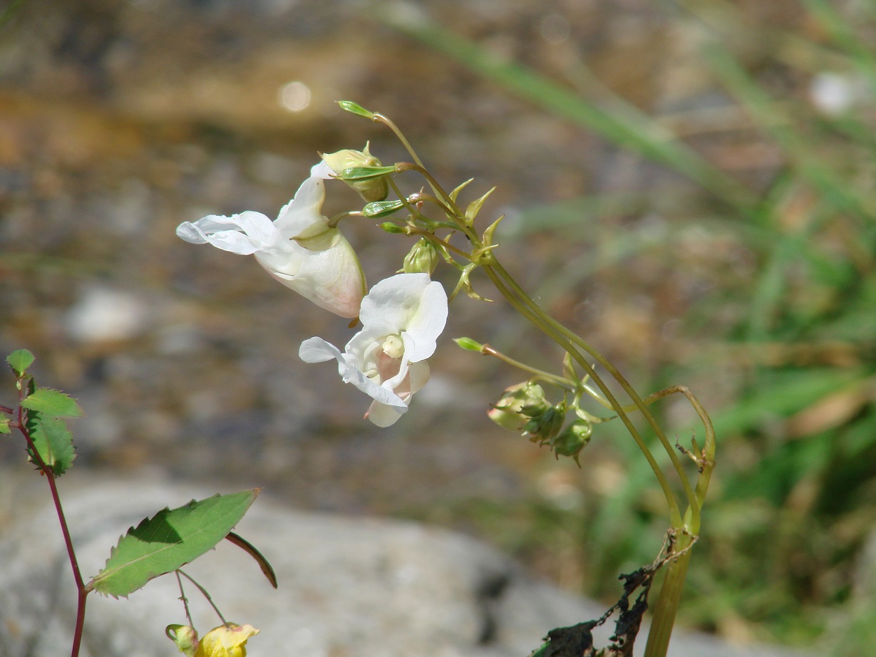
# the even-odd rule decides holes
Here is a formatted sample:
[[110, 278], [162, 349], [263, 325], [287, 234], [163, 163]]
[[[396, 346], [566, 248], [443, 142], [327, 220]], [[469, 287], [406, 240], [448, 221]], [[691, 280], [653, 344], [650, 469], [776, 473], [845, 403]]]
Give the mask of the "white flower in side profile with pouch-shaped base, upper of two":
[[[317, 168], [318, 167], [318, 168]], [[272, 222], [260, 212], [208, 215], [180, 223], [176, 234], [192, 244], [253, 254], [286, 287], [342, 317], [356, 317], [365, 293], [362, 265], [341, 231], [322, 215], [324, 167], [314, 166], [292, 201]]]

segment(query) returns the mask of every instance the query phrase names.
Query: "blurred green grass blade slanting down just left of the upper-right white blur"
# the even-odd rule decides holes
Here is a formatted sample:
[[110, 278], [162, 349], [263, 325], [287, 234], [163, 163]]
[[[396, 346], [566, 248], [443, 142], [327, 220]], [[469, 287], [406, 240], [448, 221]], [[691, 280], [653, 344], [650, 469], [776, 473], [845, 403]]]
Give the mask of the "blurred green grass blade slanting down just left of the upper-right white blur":
[[818, 158], [811, 145], [790, 127], [788, 117], [781, 113], [776, 103], [752, 80], [731, 53], [717, 45], [707, 47], [704, 53], [712, 71], [751, 112], [761, 130], [781, 146], [797, 173], [838, 211], [872, 222], [871, 208], [867, 207], [872, 206], [872, 199], [863, 199], [850, 188], [848, 180], [823, 166], [823, 160]]

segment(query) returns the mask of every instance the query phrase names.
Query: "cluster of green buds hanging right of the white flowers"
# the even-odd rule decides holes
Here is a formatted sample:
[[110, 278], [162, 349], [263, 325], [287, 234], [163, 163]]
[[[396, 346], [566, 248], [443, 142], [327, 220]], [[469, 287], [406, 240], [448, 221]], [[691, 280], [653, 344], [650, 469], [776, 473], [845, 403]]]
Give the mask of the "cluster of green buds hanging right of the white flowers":
[[548, 445], [557, 457], [570, 456], [580, 465], [578, 455], [590, 442], [593, 427], [583, 417], [563, 428], [569, 408], [566, 402], [551, 404], [540, 385], [524, 381], [505, 389], [487, 413], [500, 427], [517, 431], [539, 445]]

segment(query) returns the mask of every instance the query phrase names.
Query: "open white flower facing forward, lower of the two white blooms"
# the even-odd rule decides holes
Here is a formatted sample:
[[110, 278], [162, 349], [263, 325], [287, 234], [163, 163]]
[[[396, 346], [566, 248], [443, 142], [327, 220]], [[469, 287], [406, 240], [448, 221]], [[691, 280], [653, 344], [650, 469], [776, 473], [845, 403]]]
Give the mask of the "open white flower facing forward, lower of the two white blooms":
[[407, 411], [414, 392], [429, 378], [426, 359], [447, 322], [447, 293], [425, 273], [381, 280], [362, 300], [362, 330], [341, 352], [321, 337], [301, 343], [306, 363], [335, 358], [344, 383], [374, 399], [365, 417], [389, 427]]

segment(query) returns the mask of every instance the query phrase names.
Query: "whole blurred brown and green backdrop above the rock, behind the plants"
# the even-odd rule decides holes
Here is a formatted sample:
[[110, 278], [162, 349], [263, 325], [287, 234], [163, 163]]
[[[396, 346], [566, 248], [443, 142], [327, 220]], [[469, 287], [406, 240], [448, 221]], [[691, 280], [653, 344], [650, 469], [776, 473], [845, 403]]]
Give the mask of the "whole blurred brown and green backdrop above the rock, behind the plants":
[[[380, 430], [335, 367], [297, 356], [310, 336], [345, 343], [344, 321], [175, 237], [202, 215], [275, 216], [317, 151], [407, 159], [333, 102], [354, 100], [448, 188], [498, 186], [481, 217], [507, 215], [506, 267], [640, 393], [689, 385], [709, 409], [718, 466], [682, 624], [868, 653], [874, 39], [857, 0], [8, 0], [0, 348], [80, 400], [80, 468], [448, 526], [613, 602], [660, 548], [660, 491], [621, 427], [597, 427], [579, 470], [486, 419], [522, 377], [451, 337], [561, 359], [504, 302], [454, 302], [432, 381]], [[329, 187], [328, 215], [356, 207]], [[345, 225], [371, 284], [399, 269], [405, 238]], [[697, 431], [682, 401], [655, 413], [682, 442]], [[0, 456], [28, 467], [13, 441]]]

